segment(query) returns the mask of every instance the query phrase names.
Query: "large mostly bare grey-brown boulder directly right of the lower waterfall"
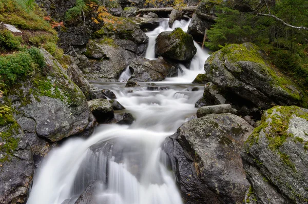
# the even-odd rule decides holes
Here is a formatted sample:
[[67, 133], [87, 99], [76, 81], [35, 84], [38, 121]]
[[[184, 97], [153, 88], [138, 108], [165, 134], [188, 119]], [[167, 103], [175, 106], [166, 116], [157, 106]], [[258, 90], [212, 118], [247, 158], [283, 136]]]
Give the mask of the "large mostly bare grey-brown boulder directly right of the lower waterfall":
[[253, 128], [230, 114], [184, 123], [162, 149], [171, 159], [185, 203], [242, 203], [249, 188], [240, 151]]

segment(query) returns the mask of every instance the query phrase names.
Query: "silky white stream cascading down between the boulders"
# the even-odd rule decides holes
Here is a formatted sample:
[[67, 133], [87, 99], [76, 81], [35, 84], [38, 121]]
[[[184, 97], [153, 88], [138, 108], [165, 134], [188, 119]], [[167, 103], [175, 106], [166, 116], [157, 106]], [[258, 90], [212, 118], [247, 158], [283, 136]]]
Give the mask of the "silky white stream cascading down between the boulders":
[[[155, 59], [155, 38], [162, 31], [189, 22], [168, 19], [146, 33], [149, 45], [145, 57]], [[162, 141], [174, 134], [185, 121], [194, 118], [196, 101], [203, 87], [192, 85], [209, 54], [199, 45], [190, 69], [182, 67], [178, 77], [140, 87], [125, 83], [94, 84], [110, 89], [117, 100], [136, 118], [130, 126], [100, 125], [88, 139], [71, 138], [52, 150], [35, 174], [28, 204], [73, 204], [89, 183], [95, 201], [104, 204], [181, 204], [175, 177], [167, 166], [167, 156], [160, 149]], [[119, 78], [126, 81], [129, 69]], [[115, 111], [117, 112], [117, 111]]]

